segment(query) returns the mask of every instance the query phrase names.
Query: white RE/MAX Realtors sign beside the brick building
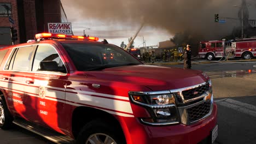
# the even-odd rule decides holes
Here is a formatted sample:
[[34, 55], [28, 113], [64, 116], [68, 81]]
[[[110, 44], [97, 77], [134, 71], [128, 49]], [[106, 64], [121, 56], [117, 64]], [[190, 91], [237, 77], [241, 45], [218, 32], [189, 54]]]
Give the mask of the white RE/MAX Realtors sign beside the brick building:
[[48, 32], [56, 34], [72, 34], [71, 22], [48, 23]]

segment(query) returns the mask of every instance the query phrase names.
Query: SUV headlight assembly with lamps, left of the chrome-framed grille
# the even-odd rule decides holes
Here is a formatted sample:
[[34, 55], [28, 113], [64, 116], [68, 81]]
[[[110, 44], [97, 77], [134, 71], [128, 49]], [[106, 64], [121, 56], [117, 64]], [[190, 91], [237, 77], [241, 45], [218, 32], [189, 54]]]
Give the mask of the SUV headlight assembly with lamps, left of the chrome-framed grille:
[[173, 94], [150, 94], [150, 92], [129, 92], [133, 103], [145, 107], [150, 118], [141, 118], [141, 122], [151, 125], [176, 124], [179, 116]]

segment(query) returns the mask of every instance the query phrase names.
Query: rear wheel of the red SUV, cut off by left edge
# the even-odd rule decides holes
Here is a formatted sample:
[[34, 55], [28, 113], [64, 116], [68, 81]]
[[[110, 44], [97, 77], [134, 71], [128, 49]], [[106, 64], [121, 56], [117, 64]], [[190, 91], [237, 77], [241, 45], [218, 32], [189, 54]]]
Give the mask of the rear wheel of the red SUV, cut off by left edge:
[[0, 95], [0, 128], [3, 130], [9, 129], [13, 126], [13, 117], [7, 108], [5, 101]]

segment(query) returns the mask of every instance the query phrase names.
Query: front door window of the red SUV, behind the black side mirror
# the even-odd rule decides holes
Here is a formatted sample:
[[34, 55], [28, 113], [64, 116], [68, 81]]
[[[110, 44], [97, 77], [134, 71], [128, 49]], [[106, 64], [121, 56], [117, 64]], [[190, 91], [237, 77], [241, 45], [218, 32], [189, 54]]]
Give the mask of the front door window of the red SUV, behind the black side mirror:
[[38, 45], [32, 71], [56, 71], [67, 73], [60, 56], [50, 45]]

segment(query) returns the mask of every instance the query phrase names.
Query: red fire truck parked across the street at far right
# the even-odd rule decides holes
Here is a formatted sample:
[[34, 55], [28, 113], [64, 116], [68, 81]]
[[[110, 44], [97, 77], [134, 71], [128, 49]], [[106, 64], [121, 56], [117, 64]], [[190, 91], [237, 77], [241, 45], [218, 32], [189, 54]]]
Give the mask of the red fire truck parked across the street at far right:
[[256, 39], [212, 40], [202, 41], [199, 47], [199, 57], [212, 61], [216, 57], [224, 57], [231, 53], [231, 57], [251, 59], [256, 56]]

